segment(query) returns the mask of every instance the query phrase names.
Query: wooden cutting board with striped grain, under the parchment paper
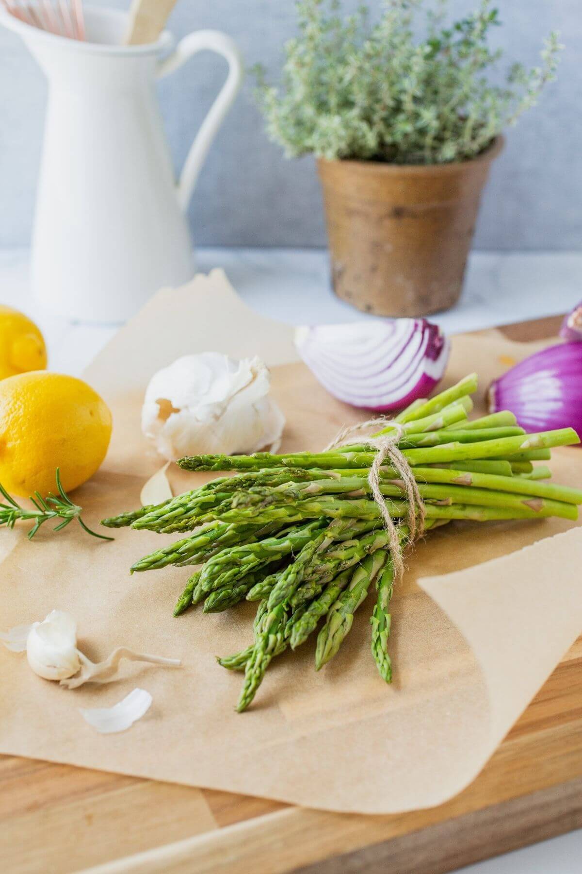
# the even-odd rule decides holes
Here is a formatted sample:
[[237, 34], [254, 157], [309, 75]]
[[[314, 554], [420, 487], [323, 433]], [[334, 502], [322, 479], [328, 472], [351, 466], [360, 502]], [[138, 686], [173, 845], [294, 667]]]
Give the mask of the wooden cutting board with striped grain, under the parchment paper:
[[[503, 333], [536, 340], [558, 324]], [[10, 874], [440, 874], [580, 827], [582, 637], [477, 779], [429, 810], [332, 814], [0, 756], [0, 858]]]

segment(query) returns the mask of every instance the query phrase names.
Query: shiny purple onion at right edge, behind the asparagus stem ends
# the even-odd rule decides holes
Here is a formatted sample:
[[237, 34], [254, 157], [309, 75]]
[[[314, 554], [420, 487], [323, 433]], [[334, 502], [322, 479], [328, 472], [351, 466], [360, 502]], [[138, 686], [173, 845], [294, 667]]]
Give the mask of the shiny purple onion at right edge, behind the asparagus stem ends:
[[572, 427], [582, 434], [582, 343], [536, 352], [491, 383], [490, 412], [510, 410], [528, 433]]

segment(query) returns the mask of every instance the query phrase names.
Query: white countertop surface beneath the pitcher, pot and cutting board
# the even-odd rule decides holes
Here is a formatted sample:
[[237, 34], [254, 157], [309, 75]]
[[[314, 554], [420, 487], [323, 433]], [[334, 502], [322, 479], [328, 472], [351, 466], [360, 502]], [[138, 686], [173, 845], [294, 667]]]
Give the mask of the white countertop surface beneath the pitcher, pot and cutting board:
[[[330, 290], [317, 249], [201, 249], [198, 269], [223, 267], [250, 307], [291, 324], [367, 318]], [[473, 253], [461, 302], [431, 316], [448, 333], [563, 313], [582, 300], [582, 253]], [[51, 370], [79, 375], [118, 326], [74, 323], [35, 309], [28, 253], [0, 252], [0, 302], [23, 309], [43, 330]], [[470, 874], [579, 874], [582, 830], [470, 865]]]

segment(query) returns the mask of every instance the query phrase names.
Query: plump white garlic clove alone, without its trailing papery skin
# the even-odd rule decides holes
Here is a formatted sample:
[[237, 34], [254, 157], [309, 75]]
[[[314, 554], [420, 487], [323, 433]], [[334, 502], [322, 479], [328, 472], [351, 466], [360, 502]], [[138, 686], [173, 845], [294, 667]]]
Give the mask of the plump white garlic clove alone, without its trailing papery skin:
[[31, 669], [45, 680], [64, 680], [80, 669], [77, 623], [71, 614], [52, 610], [43, 622], [33, 622], [26, 640]]

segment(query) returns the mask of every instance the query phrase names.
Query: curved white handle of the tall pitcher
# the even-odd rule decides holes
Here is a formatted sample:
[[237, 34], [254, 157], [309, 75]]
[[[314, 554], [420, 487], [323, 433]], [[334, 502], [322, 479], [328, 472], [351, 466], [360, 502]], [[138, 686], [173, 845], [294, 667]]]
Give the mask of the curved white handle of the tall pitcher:
[[238, 89], [243, 83], [243, 59], [234, 39], [227, 37], [225, 33], [221, 33], [221, 31], [196, 31], [182, 38], [178, 45], [176, 45], [175, 51], [168, 55], [168, 58], [161, 61], [157, 70], [158, 78], [167, 76], [168, 73], [174, 73], [178, 67], [184, 64], [192, 55], [195, 55], [196, 52], [207, 50], [216, 52], [216, 54], [222, 55], [226, 59], [229, 65], [229, 74], [223, 87], [218, 92], [214, 103], [209, 108], [206, 118], [202, 121], [181, 170], [177, 195], [181, 208], [184, 211], [188, 208], [198, 174], [204, 159], [208, 155], [212, 141], [216, 136], [218, 128], [223, 123], [224, 116], [232, 105]]

